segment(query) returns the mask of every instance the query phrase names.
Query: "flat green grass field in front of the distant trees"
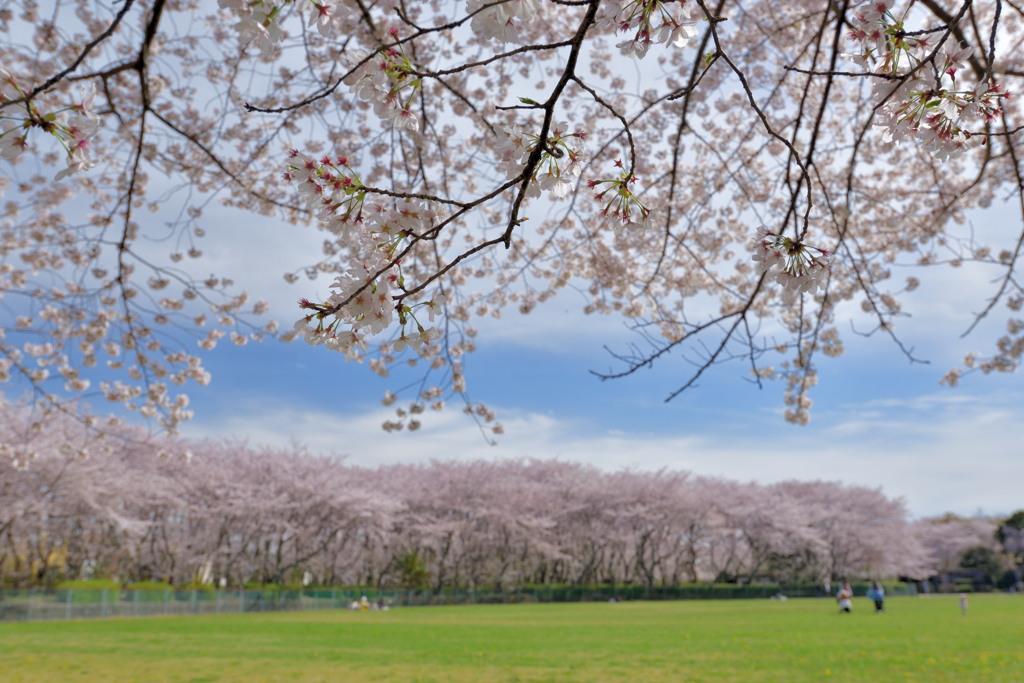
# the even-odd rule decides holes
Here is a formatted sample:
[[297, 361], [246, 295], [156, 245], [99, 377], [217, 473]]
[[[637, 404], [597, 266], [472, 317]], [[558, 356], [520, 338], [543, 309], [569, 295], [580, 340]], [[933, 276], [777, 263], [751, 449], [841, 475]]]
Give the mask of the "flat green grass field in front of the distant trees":
[[0, 680], [1024, 682], [1024, 598], [419, 607], [0, 625]]

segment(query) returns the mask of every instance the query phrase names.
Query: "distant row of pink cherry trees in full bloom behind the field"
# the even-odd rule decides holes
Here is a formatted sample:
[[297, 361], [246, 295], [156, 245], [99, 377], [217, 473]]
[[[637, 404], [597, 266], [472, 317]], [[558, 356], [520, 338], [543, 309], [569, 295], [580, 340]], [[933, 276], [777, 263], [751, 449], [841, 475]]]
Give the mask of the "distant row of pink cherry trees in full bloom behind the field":
[[299, 449], [143, 442], [112, 421], [105, 436], [71, 418], [44, 429], [14, 409], [2, 422], [8, 584], [923, 578], [993, 543], [988, 521], [910, 522], [902, 501], [835, 482], [762, 485], [550, 460], [366, 469]]

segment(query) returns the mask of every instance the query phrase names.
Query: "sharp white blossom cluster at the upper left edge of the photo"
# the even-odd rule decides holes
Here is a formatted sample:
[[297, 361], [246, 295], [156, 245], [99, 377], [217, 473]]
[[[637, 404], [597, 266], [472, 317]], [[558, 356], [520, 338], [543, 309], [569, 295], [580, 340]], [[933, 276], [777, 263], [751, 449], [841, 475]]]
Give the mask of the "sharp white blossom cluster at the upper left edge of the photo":
[[100, 126], [92, 112], [95, 85], [78, 100], [47, 113], [40, 111], [35, 100], [25, 100], [28, 94], [11, 73], [0, 67], [0, 157], [17, 159], [29, 146], [29, 131], [39, 128], [56, 138], [67, 153], [68, 168], [56, 174], [56, 180], [95, 166], [96, 160], [89, 157], [90, 141]]

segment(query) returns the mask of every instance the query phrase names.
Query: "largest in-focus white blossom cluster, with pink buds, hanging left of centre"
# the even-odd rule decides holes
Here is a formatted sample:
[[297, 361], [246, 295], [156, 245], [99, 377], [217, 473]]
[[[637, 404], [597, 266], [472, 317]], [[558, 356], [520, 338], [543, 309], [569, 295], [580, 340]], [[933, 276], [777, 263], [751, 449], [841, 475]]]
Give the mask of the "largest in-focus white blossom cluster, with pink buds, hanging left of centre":
[[[296, 181], [299, 193], [317, 218], [339, 237], [347, 248], [349, 262], [331, 285], [332, 293], [323, 303], [306, 299], [299, 306], [311, 313], [299, 318], [295, 330], [313, 346], [361, 358], [367, 334], [387, 330], [397, 313], [401, 332], [393, 342], [395, 351], [406, 347], [419, 350], [440, 336], [436, 328], [425, 328], [414, 307], [396, 305], [392, 292], [403, 290], [401, 266], [396, 258], [402, 242], [429, 228], [436, 212], [416, 201], [366, 205], [366, 188], [344, 157], [319, 161], [293, 150], [287, 162], [287, 181]], [[446, 298], [436, 293], [415, 308], [425, 308], [427, 317], [443, 309]], [[415, 324], [415, 332], [407, 325]]]

